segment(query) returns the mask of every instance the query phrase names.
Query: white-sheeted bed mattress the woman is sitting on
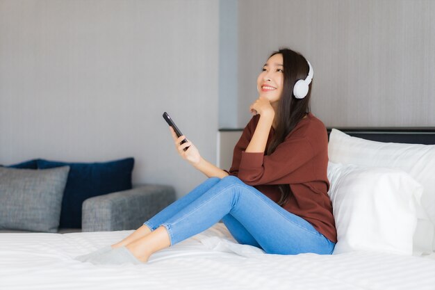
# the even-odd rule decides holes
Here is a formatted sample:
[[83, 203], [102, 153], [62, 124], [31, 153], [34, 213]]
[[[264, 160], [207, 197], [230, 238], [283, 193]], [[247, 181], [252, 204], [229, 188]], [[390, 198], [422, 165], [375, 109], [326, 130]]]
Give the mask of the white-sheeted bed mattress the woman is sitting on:
[[0, 234], [0, 289], [435, 289], [435, 259], [381, 252], [266, 255], [236, 243], [222, 224], [143, 265], [74, 259], [131, 232]]

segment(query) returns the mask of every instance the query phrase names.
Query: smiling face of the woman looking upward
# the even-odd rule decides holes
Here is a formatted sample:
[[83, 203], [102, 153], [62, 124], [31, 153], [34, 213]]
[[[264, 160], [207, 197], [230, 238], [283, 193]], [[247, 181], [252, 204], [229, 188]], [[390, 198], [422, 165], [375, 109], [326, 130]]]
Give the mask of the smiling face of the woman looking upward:
[[266, 97], [270, 103], [281, 99], [284, 84], [284, 66], [282, 54], [271, 56], [263, 66], [263, 72], [257, 79], [257, 90], [260, 97]]

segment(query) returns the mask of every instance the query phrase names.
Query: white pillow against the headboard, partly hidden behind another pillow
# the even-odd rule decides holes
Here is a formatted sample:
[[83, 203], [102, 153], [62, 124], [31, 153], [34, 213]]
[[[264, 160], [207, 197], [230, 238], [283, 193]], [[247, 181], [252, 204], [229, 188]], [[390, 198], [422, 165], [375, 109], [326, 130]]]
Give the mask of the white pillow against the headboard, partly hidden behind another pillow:
[[435, 249], [435, 145], [376, 142], [332, 129], [328, 156], [333, 163], [404, 170], [422, 184], [421, 204], [425, 211], [418, 213], [414, 246], [420, 252]]

